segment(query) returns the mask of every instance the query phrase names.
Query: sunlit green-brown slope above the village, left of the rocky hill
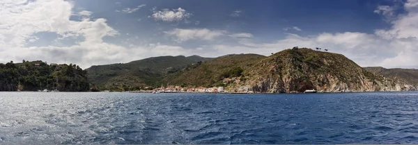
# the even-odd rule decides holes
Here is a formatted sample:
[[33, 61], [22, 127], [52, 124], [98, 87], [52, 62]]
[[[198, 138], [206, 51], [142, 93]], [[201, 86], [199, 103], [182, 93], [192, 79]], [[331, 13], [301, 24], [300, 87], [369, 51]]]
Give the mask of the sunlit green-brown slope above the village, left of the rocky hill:
[[258, 54], [232, 54], [214, 60], [188, 65], [182, 71], [164, 78], [164, 83], [172, 85], [222, 86], [224, 78], [245, 75], [248, 69], [265, 58]]

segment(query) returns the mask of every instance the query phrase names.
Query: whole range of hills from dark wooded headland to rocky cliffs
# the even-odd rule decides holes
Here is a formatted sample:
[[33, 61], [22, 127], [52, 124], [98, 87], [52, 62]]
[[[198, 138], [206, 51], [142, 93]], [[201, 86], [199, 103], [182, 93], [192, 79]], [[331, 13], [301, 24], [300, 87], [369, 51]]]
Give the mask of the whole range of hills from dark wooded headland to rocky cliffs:
[[270, 93], [306, 89], [321, 92], [416, 89], [410, 82], [362, 68], [342, 54], [307, 48], [285, 49], [271, 56], [243, 53], [217, 58], [160, 56], [124, 64], [92, 66], [86, 70], [92, 83], [116, 91], [153, 89], [161, 85], [225, 87], [231, 92]]

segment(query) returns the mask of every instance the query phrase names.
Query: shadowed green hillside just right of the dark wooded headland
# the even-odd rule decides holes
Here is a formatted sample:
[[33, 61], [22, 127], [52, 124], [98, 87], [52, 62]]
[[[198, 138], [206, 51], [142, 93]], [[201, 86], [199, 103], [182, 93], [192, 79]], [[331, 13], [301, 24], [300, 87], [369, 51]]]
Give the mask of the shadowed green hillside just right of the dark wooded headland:
[[88, 69], [88, 79], [101, 89], [133, 90], [160, 86], [164, 76], [189, 64], [211, 60], [200, 56], [160, 56], [125, 64], [98, 65]]

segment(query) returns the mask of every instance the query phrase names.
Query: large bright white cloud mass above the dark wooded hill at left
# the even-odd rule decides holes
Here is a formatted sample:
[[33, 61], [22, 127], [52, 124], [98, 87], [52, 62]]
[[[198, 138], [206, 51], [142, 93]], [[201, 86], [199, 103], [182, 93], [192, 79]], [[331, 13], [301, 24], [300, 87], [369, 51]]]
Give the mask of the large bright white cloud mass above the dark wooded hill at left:
[[[63, 63], [66, 60], [86, 68], [133, 59], [128, 56], [146, 58], [162, 54], [155, 51], [164, 48], [161, 44], [127, 48], [104, 42], [103, 37], [118, 35], [107, 19], [70, 20], [73, 7], [63, 0], [0, 1], [0, 62], [24, 59]], [[83, 37], [84, 40], [70, 46], [26, 46], [39, 40], [35, 34], [40, 32], [56, 33], [61, 39]]]

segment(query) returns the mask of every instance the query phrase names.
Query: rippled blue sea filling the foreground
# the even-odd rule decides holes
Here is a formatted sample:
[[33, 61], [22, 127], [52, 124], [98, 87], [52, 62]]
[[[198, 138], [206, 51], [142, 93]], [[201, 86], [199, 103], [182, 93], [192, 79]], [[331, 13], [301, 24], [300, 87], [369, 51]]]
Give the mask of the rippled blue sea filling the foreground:
[[418, 144], [418, 92], [0, 92], [0, 144]]

